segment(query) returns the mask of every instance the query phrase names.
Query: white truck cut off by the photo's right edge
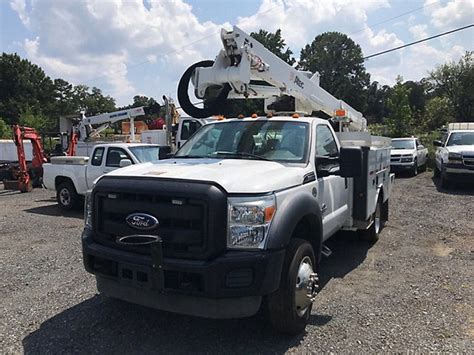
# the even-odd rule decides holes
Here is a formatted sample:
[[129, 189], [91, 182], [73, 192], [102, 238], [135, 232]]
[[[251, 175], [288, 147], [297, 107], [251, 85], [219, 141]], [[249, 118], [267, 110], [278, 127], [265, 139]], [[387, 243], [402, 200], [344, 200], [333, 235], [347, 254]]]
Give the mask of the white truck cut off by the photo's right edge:
[[435, 177], [441, 186], [449, 187], [451, 181], [474, 182], [474, 122], [450, 123], [437, 146]]

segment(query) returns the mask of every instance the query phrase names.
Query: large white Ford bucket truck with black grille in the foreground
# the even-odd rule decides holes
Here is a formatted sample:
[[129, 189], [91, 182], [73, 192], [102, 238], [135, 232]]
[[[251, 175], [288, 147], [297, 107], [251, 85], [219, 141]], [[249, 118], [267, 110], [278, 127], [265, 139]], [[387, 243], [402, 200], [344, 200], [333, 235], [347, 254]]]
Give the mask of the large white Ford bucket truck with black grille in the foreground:
[[[197, 96], [214, 103], [229, 94], [275, 108], [291, 95], [300, 115], [221, 119], [170, 160], [101, 177], [86, 198], [84, 265], [111, 297], [213, 318], [251, 316], [266, 303], [276, 329], [299, 333], [321, 256], [331, 253], [325, 241], [344, 229], [374, 242], [388, 219], [390, 139], [370, 136], [318, 75], [237, 27], [221, 37], [214, 64], [186, 71], [181, 94], [192, 79]], [[218, 113], [181, 99], [192, 116]], [[313, 111], [333, 119], [301, 117]]]

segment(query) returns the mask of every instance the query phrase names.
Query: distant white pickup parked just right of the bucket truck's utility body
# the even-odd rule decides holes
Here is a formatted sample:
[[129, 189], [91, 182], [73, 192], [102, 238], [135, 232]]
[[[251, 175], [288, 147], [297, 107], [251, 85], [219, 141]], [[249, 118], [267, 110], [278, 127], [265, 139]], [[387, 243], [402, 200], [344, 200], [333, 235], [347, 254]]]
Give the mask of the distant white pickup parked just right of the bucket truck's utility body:
[[426, 169], [427, 156], [428, 148], [424, 147], [418, 138], [392, 138], [390, 170], [410, 171], [416, 176], [418, 170]]

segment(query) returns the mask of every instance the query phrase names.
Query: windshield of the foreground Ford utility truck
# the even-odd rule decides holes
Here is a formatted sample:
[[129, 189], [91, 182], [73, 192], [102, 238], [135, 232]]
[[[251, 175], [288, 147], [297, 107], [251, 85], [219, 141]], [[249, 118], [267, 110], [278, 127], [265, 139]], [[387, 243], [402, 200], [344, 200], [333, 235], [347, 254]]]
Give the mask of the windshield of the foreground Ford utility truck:
[[176, 158], [306, 162], [309, 125], [292, 121], [228, 121], [202, 127]]

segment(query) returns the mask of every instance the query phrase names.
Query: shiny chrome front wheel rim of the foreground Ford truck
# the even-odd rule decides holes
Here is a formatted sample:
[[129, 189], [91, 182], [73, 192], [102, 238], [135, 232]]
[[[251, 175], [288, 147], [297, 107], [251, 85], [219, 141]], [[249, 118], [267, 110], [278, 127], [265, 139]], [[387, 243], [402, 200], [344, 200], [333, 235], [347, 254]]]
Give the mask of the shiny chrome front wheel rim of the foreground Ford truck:
[[295, 287], [295, 306], [298, 316], [302, 317], [318, 292], [318, 276], [313, 270], [309, 256], [305, 256], [298, 268]]

